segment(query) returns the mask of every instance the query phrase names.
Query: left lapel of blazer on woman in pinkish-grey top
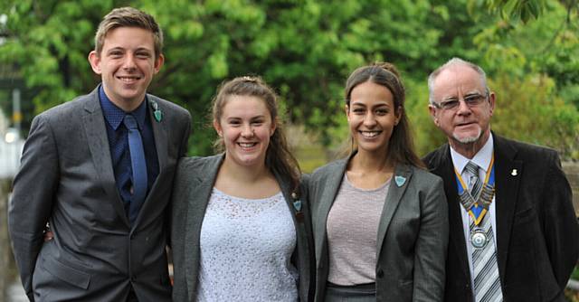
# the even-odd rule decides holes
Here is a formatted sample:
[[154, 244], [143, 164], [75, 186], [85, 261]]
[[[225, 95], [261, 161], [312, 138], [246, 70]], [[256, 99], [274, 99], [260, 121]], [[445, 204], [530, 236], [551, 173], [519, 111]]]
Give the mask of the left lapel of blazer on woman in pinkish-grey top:
[[337, 191], [340, 188], [340, 184], [342, 184], [344, 173], [346, 173], [348, 161], [349, 158], [341, 159], [337, 162], [337, 165], [333, 169], [334, 171], [327, 175], [327, 181], [324, 182], [326, 185], [324, 193], [319, 197], [318, 201], [315, 201], [316, 203], [319, 203], [318, 216], [312, 218], [312, 221], [317, 222], [314, 223], [314, 239], [316, 241], [316, 263], [318, 263], [318, 267], [323, 263], [321, 260], [322, 255], [327, 255], [327, 251], [325, 250], [325, 247], [327, 247], [327, 213], [336, 199]]

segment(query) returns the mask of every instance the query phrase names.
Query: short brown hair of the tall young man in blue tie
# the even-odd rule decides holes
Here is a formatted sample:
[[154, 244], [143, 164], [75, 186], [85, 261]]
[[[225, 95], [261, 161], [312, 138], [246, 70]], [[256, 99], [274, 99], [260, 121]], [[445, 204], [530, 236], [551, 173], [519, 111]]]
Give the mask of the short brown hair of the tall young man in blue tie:
[[105, 37], [111, 30], [119, 27], [138, 27], [153, 33], [155, 42], [155, 59], [163, 52], [163, 31], [152, 15], [133, 7], [119, 7], [102, 18], [99, 29], [94, 36], [94, 50], [100, 55]]

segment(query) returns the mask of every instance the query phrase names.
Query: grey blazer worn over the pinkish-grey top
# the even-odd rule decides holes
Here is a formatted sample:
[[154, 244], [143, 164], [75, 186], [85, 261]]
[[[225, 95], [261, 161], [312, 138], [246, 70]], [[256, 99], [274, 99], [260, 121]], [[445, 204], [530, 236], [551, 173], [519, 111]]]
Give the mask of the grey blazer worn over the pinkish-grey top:
[[[308, 184], [316, 250], [316, 301], [324, 301], [327, 285], [327, 213], [348, 160], [318, 168]], [[398, 177], [396, 182], [396, 176], [405, 180]], [[388, 190], [378, 226], [376, 301], [441, 301], [449, 231], [441, 178], [411, 165], [397, 165]]]

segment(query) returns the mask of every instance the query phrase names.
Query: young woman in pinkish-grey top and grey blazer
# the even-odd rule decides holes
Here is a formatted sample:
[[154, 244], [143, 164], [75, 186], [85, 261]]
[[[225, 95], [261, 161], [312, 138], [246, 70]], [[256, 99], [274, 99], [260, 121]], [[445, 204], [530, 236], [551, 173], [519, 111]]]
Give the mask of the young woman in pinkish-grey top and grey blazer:
[[448, 242], [441, 178], [414, 153], [400, 74], [390, 63], [346, 80], [349, 156], [308, 182], [316, 301], [441, 301]]

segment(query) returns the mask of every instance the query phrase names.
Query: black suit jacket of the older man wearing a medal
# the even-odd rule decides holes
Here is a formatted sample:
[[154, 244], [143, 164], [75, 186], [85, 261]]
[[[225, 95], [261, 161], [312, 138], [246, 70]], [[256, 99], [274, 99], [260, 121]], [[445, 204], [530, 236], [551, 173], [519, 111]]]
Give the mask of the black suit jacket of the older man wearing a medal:
[[[571, 188], [551, 149], [493, 134], [497, 261], [505, 301], [565, 301], [563, 290], [579, 257], [579, 226]], [[451, 148], [425, 157], [444, 180], [450, 242], [444, 301], [473, 301]]]

